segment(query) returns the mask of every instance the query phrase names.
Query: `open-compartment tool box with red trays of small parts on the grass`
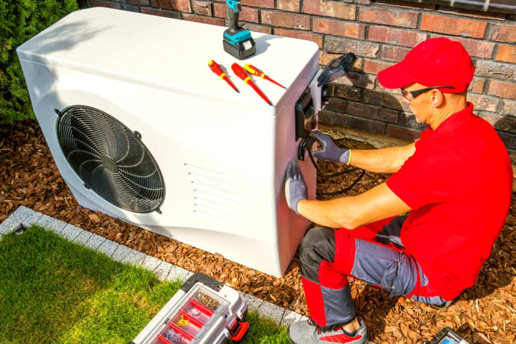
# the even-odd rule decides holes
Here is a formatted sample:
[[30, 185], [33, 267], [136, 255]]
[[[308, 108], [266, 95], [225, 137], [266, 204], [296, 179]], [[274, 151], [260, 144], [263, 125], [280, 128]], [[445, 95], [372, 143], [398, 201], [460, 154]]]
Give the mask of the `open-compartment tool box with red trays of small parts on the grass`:
[[131, 344], [219, 344], [246, 333], [240, 294], [202, 273], [193, 274]]

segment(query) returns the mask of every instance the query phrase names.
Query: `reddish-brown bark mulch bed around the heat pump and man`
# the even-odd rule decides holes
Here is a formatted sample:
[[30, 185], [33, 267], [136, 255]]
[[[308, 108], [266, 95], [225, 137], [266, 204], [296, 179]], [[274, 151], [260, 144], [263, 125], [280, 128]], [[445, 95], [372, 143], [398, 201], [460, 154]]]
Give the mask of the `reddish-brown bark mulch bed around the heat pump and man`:
[[[341, 140], [352, 148], [370, 148], [358, 141]], [[333, 173], [343, 167], [320, 161], [320, 169]], [[317, 178], [322, 192], [349, 185], [357, 172], [336, 178]], [[361, 193], [388, 178], [388, 174], [366, 173], [347, 192]], [[472, 200], [474, 202], [474, 200]], [[299, 278], [298, 256], [281, 279], [252, 270], [190, 245], [128, 225], [100, 212], [80, 207], [61, 178], [36, 121], [0, 126], [0, 222], [24, 205], [128, 247], [166, 260], [193, 272], [252, 294], [260, 299], [308, 315]], [[467, 216], [458, 214], [457, 216]], [[420, 343], [449, 326], [470, 342], [513, 343], [516, 335], [516, 195], [491, 257], [477, 284], [465, 290], [446, 310], [433, 309], [405, 299], [389, 298], [388, 292], [351, 280], [358, 314], [368, 325], [376, 343]]]

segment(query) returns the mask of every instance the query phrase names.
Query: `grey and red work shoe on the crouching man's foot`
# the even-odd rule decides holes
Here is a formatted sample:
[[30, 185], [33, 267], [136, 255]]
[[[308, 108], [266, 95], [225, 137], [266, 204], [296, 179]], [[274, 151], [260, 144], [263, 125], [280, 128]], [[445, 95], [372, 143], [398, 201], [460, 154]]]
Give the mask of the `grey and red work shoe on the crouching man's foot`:
[[297, 321], [288, 326], [288, 339], [294, 344], [327, 344], [327, 343], [347, 343], [365, 344], [367, 343], [367, 327], [364, 321], [357, 317], [360, 327], [351, 336], [342, 327], [336, 330], [322, 332], [314, 325], [312, 319], [307, 321]]

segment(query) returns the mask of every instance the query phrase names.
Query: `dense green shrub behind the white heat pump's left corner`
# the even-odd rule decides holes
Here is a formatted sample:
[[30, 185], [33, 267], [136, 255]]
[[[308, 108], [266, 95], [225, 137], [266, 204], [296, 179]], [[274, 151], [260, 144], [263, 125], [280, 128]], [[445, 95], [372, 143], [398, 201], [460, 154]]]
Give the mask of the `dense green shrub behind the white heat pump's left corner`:
[[76, 9], [76, 0], [0, 0], [0, 124], [35, 118], [16, 48]]

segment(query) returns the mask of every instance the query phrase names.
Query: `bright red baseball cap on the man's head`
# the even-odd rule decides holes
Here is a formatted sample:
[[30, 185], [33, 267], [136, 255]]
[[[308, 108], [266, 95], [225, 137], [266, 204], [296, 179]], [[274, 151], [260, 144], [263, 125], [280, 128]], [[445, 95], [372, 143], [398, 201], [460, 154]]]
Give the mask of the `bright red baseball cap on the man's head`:
[[458, 41], [431, 38], [417, 44], [405, 58], [378, 73], [385, 88], [401, 88], [418, 83], [426, 87], [455, 86], [440, 89], [446, 93], [462, 93], [473, 79], [475, 66]]

